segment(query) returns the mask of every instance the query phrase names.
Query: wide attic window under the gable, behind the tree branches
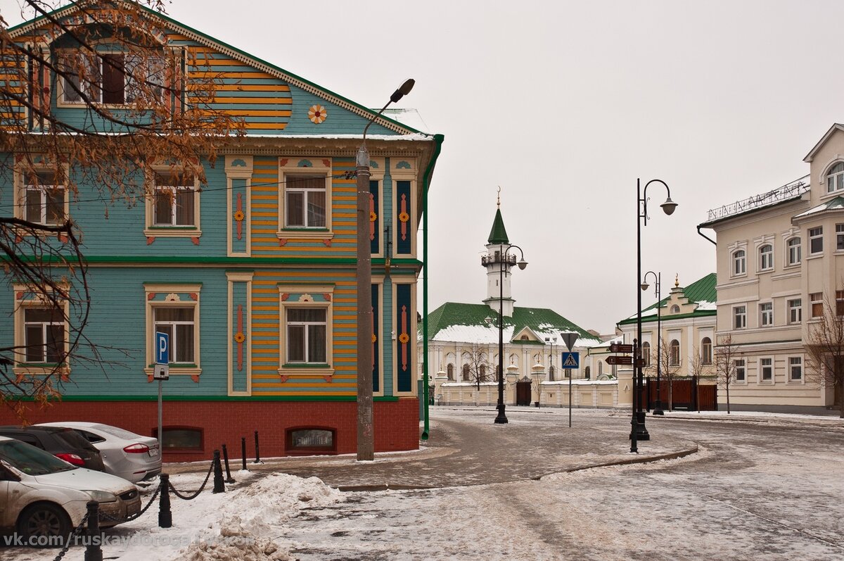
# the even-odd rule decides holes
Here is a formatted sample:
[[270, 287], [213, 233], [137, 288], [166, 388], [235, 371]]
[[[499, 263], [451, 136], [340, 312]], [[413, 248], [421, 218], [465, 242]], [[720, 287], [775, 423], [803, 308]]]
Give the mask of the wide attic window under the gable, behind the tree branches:
[[58, 61], [62, 103], [126, 105], [142, 97], [143, 92], [150, 101], [161, 99], [166, 68], [163, 54], [62, 53]]

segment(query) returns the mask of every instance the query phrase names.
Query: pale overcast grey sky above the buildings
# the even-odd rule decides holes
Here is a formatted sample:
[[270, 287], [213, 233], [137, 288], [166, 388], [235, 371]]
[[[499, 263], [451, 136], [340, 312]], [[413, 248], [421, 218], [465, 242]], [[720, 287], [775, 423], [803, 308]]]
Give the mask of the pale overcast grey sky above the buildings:
[[[0, 0], [10, 25], [17, 0]], [[809, 172], [844, 112], [836, 0], [322, 3], [173, 0], [172, 18], [366, 106], [401, 106], [446, 141], [430, 191], [430, 309], [486, 296], [479, 255], [497, 186], [529, 262], [517, 306], [611, 332], [642, 268], [663, 296], [715, 270], [706, 210]], [[711, 231], [707, 233], [712, 236]], [[421, 294], [421, 286], [419, 287]], [[647, 305], [653, 291], [643, 294]]]

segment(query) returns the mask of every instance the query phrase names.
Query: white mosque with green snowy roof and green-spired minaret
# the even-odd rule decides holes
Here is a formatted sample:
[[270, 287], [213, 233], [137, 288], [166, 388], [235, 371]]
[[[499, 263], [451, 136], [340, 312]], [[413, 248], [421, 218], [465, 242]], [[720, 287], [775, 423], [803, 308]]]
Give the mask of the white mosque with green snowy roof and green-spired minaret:
[[[481, 257], [487, 275], [487, 294], [483, 303], [446, 302], [429, 314], [427, 355], [425, 341], [421, 335], [419, 337], [420, 379], [422, 365], [427, 362], [433, 386], [430, 395], [436, 404], [495, 405], [498, 400], [500, 317], [506, 405], [539, 401], [542, 405], [567, 406], [568, 398], [560, 384], [567, 384], [570, 372], [576, 384], [591, 384], [594, 380], [586, 380], [584, 365], [561, 368], [560, 353], [566, 348], [560, 332], [577, 333], [576, 346], [572, 350], [580, 351], [581, 356], [587, 354], [589, 347], [602, 344], [600, 336], [552, 309], [516, 306], [511, 292], [511, 273], [513, 265], [518, 265], [516, 258], [521, 250], [507, 237], [500, 201], [486, 250]], [[517, 400], [518, 382], [531, 384], [527, 403], [523, 393], [522, 399]], [[615, 405], [615, 385], [610, 381], [609, 387], [604, 389], [608, 395], [603, 396], [603, 405]], [[591, 387], [589, 392], [592, 392]], [[580, 397], [577, 393], [572, 398], [575, 405], [580, 405]], [[601, 399], [597, 397], [583, 398], [582, 405], [595, 406], [599, 401]]]

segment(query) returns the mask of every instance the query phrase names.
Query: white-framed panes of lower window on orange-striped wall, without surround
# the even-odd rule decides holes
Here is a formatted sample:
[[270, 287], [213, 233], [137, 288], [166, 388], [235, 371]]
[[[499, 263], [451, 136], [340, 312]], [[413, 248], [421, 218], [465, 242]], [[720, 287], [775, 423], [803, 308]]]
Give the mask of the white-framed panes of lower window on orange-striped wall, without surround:
[[[325, 308], [284, 310], [287, 327], [286, 362], [288, 364], [327, 364], [327, 313]], [[468, 364], [463, 365], [467, 379]]]

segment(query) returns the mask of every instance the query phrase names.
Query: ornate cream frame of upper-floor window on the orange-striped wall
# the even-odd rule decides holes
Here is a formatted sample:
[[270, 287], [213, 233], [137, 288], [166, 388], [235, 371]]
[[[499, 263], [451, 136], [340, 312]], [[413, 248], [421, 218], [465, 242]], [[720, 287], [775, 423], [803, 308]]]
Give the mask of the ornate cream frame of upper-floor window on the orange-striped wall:
[[[279, 215], [276, 237], [279, 240], [311, 239], [331, 240], [333, 231], [333, 182], [331, 158], [282, 156], [279, 157]], [[325, 226], [287, 226], [287, 181], [289, 177], [325, 177]], [[253, 190], [260, 190], [254, 188]]]

